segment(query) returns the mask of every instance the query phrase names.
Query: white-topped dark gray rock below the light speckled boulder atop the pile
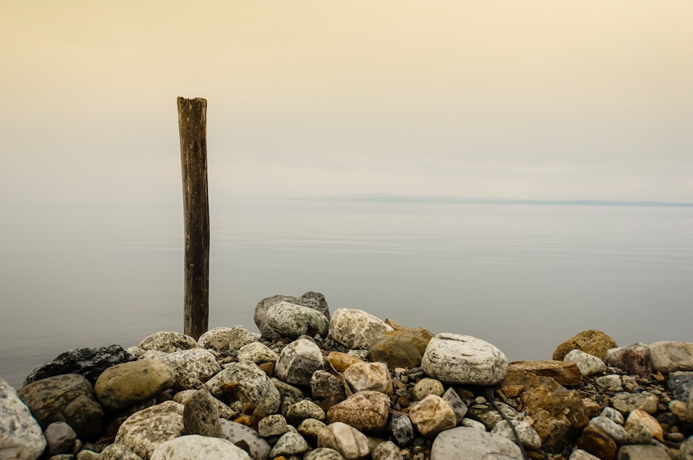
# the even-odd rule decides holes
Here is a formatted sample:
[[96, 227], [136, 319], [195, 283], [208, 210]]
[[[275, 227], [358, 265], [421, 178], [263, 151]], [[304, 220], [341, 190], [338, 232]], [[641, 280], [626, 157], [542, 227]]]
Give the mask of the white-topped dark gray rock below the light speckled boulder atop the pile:
[[324, 363], [319, 346], [308, 339], [298, 339], [281, 351], [274, 373], [284, 382], [308, 387], [313, 373], [322, 369]]

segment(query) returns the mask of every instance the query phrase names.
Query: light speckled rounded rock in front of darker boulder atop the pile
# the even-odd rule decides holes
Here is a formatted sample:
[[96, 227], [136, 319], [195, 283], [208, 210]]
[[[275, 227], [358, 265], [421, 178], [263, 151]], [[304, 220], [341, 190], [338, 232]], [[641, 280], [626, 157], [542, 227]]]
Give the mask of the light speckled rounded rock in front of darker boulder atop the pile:
[[329, 322], [325, 315], [313, 308], [279, 302], [267, 308], [265, 326], [280, 337], [297, 339], [304, 334], [326, 337]]

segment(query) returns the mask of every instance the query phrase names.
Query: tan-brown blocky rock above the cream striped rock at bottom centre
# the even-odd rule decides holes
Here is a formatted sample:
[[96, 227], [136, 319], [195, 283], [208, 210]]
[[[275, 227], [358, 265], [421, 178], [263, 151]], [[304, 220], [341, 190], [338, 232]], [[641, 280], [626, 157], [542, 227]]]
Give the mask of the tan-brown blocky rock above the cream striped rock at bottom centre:
[[327, 412], [327, 422], [342, 422], [365, 433], [379, 433], [387, 423], [389, 405], [390, 398], [385, 393], [360, 391], [333, 405]]

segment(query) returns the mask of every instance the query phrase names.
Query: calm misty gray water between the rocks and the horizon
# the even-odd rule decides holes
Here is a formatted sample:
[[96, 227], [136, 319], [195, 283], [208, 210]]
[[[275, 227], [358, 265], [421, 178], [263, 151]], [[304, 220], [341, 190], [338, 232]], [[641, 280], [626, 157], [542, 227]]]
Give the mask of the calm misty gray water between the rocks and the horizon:
[[[69, 348], [182, 332], [182, 204], [4, 204], [0, 378]], [[510, 360], [603, 330], [693, 341], [693, 208], [337, 200], [211, 202], [209, 326], [322, 292]]]

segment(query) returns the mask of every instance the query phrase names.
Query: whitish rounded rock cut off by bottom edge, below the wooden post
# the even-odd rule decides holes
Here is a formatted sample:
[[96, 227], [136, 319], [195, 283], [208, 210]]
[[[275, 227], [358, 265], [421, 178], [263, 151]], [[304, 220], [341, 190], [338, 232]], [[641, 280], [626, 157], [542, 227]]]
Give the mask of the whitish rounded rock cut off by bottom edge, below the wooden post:
[[192, 434], [161, 443], [150, 460], [252, 460], [245, 450], [226, 439]]

